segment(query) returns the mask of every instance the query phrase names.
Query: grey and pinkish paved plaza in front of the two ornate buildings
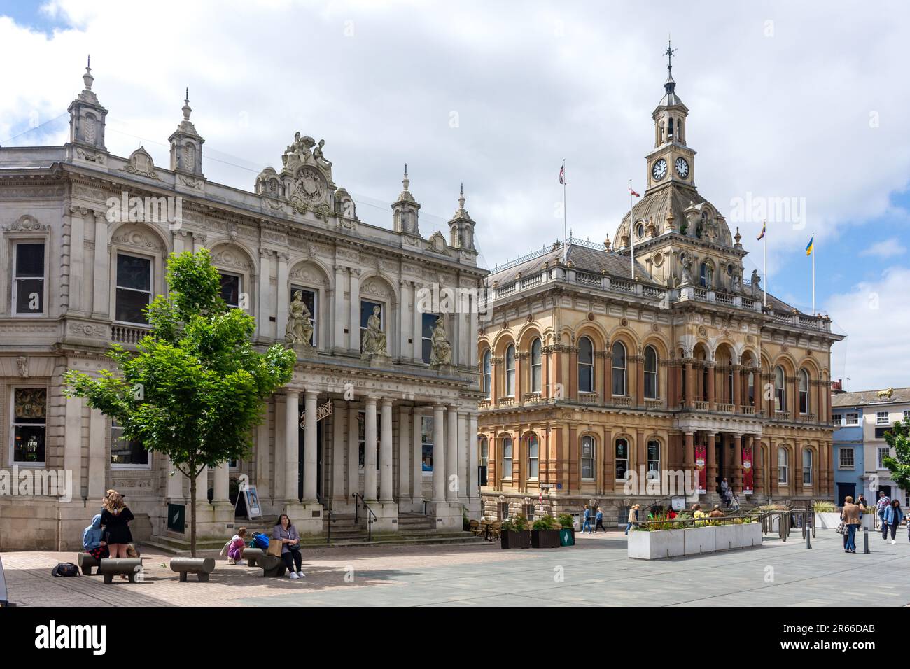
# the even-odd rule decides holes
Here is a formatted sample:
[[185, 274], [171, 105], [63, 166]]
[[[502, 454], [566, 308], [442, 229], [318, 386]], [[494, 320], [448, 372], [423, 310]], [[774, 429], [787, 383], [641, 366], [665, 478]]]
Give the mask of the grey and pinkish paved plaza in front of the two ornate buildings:
[[[3, 554], [10, 598], [37, 606], [831, 606], [910, 605], [910, 543], [869, 535], [873, 550], [843, 552], [819, 530], [813, 550], [799, 534], [761, 548], [672, 560], [626, 557], [622, 532], [580, 536], [574, 548], [503, 551], [499, 544], [326, 548], [304, 552], [307, 578], [264, 579], [261, 570], [218, 566], [208, 583], [178, 583], [169, 556], [146, 552], [144, 583], [100, 576], [54, 578], [73, 553]], [[859, 537], [862, 551], [862, 536]], [[883, 574], [895, 577], [883, 578]]]

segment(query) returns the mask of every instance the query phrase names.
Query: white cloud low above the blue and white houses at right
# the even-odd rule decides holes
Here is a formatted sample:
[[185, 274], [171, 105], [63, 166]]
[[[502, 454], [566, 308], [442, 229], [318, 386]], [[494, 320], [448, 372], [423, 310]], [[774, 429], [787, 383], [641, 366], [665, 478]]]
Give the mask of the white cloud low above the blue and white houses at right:
[[827, 301], [837, 329], [849, 337], [834, 344], [832, 379], [850, 377], [850, 390], [910, 385], [910, 269], [885, 269]]

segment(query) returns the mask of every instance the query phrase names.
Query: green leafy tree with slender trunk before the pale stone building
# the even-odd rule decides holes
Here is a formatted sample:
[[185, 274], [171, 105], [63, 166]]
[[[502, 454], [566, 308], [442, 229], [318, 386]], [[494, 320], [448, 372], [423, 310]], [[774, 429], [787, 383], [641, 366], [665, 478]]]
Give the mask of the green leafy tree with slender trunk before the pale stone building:
[[125, 439], [164, 453], [189, 478], [195, 556], [197, 476], [248, 454], [263, 402], [291, 379], [296, 356], [278, 344], [253, 348], [256, 320], [220, 298], [207, 249], [171, 254], [167, 286], [146, 309], [151, 330], [137, 352], [114, 344], [116, 372], [71, 370], [65, 393], [85, 398], [122, 426]]

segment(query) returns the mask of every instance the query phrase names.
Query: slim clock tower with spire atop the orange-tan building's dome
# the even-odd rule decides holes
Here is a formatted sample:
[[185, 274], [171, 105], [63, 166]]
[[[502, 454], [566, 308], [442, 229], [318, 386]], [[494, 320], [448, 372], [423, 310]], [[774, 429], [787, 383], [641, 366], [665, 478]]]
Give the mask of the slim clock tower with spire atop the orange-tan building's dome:
[[648, 161], [648, 189], [675, 183], [694, 187], [695, 152], [686, 146], [685, 124], [689, 109], [676, 95], [673, 81], [672, 57], [676, 49], [667, 43], [667, 80], [663, 84], [661, 102], [652, 113], [654, 119], [654, 150]]

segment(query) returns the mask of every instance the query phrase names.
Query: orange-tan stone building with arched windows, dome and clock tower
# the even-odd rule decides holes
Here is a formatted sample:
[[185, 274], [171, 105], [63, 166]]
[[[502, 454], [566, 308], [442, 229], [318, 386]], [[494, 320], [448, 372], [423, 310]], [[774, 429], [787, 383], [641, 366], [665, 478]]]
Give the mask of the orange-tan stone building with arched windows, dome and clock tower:
[[[830, 499], [831, 320], [743, 280], [747, 251], [695, 188], [688, 109], [668, 76], [647, 185], [613, 244], [570, 239], [492, 271], [480, 336], [484, 513], [634, 502]], [[632, 276], [634, 245], [634, 276]], [[637, 486], [626, 488], [627, 472]], [[481, 476], [481, 479], [483, 477]]]

